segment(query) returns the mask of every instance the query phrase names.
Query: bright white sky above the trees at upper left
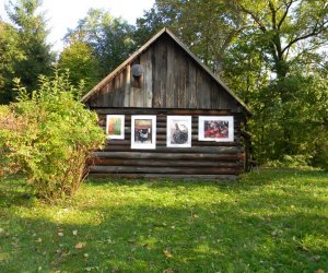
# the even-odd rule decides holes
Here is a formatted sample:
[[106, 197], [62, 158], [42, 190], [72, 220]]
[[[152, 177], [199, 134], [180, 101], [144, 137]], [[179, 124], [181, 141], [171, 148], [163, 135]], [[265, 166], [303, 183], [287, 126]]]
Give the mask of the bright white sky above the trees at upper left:
[[[8, 21], [5, 4], [10, 0], [0, 0], [0, 16]], [[14, 0], [12, 0], [14, 1]], [[155, 0], [43, 0], [42, 11], [46, 11], [47, 26], [50, 29], [48, 43], [55, 51], [61, 51], [62, 37], [68, 28], [74, 28], [78, 21], [86, 15], [89, 9], [104, 9], [110, 14], [136, 24], [136, 19], [143, 15]]]

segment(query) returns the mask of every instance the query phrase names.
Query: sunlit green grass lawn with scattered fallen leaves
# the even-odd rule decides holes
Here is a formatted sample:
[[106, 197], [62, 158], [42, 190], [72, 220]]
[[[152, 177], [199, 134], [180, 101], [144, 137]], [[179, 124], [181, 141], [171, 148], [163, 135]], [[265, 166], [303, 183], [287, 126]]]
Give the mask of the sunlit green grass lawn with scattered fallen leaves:
[[56, 205], [23, 185], [0, 180], [0, 272], [328, 271], [327, 173], [89, 180]]

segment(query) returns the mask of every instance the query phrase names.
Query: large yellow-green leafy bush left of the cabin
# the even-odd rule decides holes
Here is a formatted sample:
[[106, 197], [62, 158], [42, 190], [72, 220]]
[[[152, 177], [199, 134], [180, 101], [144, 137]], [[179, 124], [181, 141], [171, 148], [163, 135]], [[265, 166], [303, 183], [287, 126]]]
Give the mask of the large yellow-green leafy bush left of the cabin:
[[58, 72], [40, 78], [32, 97], [17, 90], [17, 103], [0, 108], [2, 175], [23, 173], [43, 199], [73, 194], [87, 175], [92, 151], [105, 140], [96, 114], [74, 98], [79, 90]]

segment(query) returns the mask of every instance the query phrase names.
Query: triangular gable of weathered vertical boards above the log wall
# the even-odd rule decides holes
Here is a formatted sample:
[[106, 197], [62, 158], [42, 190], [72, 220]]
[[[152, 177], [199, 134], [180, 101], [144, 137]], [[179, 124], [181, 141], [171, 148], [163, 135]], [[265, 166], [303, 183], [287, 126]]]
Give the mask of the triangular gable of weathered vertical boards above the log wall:
[[[133, 64], [144, 68], [138, 79]], [[241, 105], [167, 34], [104, 84], [86, 102], [89, 107], [230, 109]]]

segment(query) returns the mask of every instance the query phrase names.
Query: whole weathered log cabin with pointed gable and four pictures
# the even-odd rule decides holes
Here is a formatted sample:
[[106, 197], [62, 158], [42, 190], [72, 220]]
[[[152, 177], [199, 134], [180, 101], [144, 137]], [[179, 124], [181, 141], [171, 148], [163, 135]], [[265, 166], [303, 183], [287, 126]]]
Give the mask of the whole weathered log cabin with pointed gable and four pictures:
[[93, 176], [235, 179], [245, 170], [250, 110], [167, 28], [82, 100], [108, 135]]

